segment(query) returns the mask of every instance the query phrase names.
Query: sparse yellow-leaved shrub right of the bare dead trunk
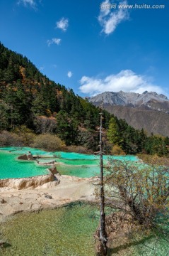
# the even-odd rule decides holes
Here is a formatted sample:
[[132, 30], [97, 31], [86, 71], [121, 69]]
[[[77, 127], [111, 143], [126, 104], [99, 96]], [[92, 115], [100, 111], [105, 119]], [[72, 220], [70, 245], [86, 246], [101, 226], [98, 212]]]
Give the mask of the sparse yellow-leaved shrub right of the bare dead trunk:
[[[110, 159], [105, 184], [115, 188], [113, 198], [121, 202], [119, 209], [141, 225], [155, 225], [158, 213], [167, 213], [169, 199], [169, 167], [167, 161], [153, 156], [148, 164]], [[110, 193], [110, 190], [109, 190]], [[112, 201], [113, 203], [114, 201]]]

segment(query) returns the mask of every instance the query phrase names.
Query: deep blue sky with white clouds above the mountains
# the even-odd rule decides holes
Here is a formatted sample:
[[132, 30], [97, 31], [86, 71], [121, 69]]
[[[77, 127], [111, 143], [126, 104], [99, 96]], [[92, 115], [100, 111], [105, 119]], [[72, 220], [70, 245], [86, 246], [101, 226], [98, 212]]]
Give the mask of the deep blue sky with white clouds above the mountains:
[[168, 14], [169, 0], [1, 0], [0, 41], [81, 96], [169, 96]]

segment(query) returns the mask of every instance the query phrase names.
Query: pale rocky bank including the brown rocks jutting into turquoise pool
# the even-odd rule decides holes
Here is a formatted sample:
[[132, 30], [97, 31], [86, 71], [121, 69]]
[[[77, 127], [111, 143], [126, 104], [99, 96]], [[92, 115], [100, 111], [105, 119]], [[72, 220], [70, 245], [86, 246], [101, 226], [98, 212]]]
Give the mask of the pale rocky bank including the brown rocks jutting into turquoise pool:
[[18, 159], [50, 166], [49, 174], [0, 179], [0, 221], [16, 213], [53, 209], [73, 201], [95, 200], [95, 183], [100, 180], [98, 177], [60, 175], [55, 161], [40, 163], [31, 152], [18, 156]]

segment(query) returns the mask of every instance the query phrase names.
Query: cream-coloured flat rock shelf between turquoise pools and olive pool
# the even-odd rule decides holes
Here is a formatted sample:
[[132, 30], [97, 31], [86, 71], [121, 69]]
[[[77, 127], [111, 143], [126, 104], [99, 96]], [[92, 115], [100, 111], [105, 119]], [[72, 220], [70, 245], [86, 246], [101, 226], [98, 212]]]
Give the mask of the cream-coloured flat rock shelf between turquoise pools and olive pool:
[[[41, 179], [42, 176], [39, 178]], [[25, 181], [28, 179], [24, 178]], [[33, 178], [31, 180], [33, 181]], [[20, 212], [53, 209], [73, 201], [95, 201], [94, 183], [98, 183], [98, 180], [97, 177], [78, 178], [54, 174], [54, 181], [42, 184], [41, 180], [39, 186], [35, 188], [32, 186], [18, 189], [14, 186], [0, 186], [0, 221]]]

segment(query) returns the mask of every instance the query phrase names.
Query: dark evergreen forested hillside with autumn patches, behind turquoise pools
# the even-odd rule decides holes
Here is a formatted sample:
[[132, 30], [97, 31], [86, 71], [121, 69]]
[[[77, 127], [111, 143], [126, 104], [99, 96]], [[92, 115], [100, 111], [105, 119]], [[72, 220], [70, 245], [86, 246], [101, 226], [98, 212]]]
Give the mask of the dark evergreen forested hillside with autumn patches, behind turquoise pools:
[[[66, 146], [98, 151], [99, 113], [98, 107], [49, 80], [28, 58], [0, 43], [1, 133], [21, 134], [24, 128], [34, 134], [57, 134]], [[168, 154], [168, 138], [147, 137], [144, 130], [107, 111], [103, 111], [103, 131], [106, 153], [113, 148], [114, 153]]]

